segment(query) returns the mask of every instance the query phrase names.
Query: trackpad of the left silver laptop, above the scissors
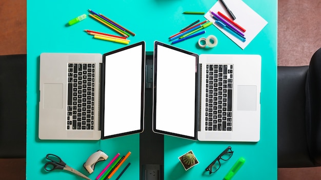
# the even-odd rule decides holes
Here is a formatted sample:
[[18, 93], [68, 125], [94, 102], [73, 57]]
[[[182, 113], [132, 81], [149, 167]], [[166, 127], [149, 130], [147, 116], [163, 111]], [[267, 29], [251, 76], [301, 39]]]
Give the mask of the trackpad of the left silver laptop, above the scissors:
[[44, 108], [63, 108], [63, 84], [44, 84]]

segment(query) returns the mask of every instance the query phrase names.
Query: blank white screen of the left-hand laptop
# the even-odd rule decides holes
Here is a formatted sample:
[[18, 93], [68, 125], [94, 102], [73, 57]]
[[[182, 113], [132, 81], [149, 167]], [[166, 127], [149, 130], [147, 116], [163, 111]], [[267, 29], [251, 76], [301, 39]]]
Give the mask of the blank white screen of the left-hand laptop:
[[[142, 53], [144, 51], [144, 53]], [[141, 131], [144, 110], [142, 88], [143, 44], [105, 54], [105, 112], [104, 137]], [[143, 64], [142, 64], [143, 63]], [[144, 75], [143, 75], [144, 79]]]

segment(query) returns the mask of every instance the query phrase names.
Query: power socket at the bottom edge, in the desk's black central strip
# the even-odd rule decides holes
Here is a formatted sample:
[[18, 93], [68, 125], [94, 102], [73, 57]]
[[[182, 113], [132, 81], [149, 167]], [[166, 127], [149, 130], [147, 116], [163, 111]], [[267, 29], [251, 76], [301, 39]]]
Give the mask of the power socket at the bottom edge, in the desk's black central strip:
[[163, 177], [162, 168], [158, 164], [143, 165], [143, 180], [160, 180]]

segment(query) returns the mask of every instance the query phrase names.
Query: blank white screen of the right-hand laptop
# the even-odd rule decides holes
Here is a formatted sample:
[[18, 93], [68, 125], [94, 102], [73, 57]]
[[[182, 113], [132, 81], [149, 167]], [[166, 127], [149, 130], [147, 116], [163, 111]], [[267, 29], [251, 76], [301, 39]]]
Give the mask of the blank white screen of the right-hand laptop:
[[[195, 137], [197, 55], [155, 42], [153, 130]], [[156, 76], [156, 77], [155, 77]]]

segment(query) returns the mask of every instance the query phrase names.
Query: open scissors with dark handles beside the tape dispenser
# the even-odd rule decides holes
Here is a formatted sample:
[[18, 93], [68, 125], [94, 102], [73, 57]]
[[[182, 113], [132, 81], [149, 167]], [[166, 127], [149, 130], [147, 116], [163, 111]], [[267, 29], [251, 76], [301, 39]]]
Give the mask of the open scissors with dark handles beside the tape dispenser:
[[51, 162], [48, 162], [45, 164], [45, 170], [50, 172], [53, 171], [55, 169], [61, 169], [61, 170], [66, 170], [69, 172], [72, 172], [78, 176], [81, 176], [85, 179], [89, 179], [89, 177], [87, 177], [86, 175], [82, 174], [81, 172], [75, 170], [74, 168], [68, 166], [65, 162], [63, 162], [63, 160], [61, 158], [59, 158], [59, 156], [54, 155], [54, 154], [47, 154], [46, 155], [46, 159], [50, 160]]

